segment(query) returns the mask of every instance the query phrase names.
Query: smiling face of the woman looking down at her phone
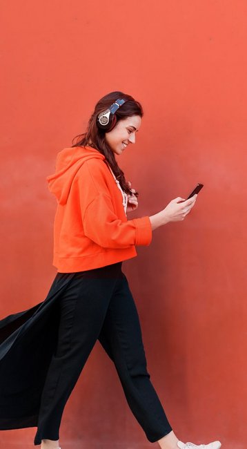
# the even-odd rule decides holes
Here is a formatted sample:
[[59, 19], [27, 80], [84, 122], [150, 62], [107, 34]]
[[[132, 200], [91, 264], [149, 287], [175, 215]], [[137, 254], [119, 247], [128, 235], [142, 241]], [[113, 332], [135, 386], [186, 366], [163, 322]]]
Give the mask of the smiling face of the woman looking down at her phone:
[[139, 115], [119, 120], [112, 131], [106, 133], [106, 142], [114, 153], [120, 155], [128, 144], [135, 144], [135, 133], [139, 131], [140, 126], [141, 117]]

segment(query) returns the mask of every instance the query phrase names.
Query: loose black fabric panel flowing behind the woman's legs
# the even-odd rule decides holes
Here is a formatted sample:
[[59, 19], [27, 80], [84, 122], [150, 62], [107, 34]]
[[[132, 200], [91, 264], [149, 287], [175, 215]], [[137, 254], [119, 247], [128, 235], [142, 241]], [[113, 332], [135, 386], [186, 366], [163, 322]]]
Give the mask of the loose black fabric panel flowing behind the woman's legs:
[[[60, 278], [59, 278], [60, 276]], [[57, 273], [42, 303], [0, 321], [0, 430], [37, 426], [43, 385], [57, 344], [59, 297], [73, 273]]]

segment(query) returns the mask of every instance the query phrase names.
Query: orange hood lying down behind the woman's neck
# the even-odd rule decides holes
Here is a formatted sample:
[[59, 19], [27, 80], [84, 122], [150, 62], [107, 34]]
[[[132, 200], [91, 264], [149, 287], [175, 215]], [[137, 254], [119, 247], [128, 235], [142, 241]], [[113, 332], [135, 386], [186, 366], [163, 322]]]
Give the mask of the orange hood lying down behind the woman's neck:
[[71, 184], [84, 162], [92, 157], [104, 160], [106, 157], [91, 146], [73, 146], [57, 154], [55, 173], [46, 178], [48, 189], [59, 204], [66, 204]]

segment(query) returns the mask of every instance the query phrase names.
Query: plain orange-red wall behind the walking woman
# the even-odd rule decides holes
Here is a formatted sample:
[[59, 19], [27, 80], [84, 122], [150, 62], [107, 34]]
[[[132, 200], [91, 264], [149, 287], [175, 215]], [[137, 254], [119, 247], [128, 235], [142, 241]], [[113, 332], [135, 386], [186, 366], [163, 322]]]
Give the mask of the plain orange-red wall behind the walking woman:
[[[152, 215], [197, 182], [184, 222], [124, 262], [151, 379], [177, 436], [246, 446], [244, 0], [1, 3], [1, 316], [43, 300], [55, 198], [46, 176], [112, 90], [145, 116], [118, 162]], [[0, 432], [32, 446], [35, 429]], [[148, 448], [97, 343], [66, 406], [61, 446]], [[117, 446], [117, 443], [119, 446]]]

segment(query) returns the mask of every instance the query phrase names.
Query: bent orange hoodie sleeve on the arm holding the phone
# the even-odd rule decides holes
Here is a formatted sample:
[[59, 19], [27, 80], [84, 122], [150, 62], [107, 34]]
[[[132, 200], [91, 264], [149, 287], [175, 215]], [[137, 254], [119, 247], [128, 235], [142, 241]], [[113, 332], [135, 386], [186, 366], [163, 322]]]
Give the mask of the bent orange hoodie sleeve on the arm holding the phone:
[[104, 248], [150, 245], [152, 227], [148, 216], [122, 222], [117, 218], [110, 196], [98, 195], [88, 204], [83, 218], [85, 235]]

